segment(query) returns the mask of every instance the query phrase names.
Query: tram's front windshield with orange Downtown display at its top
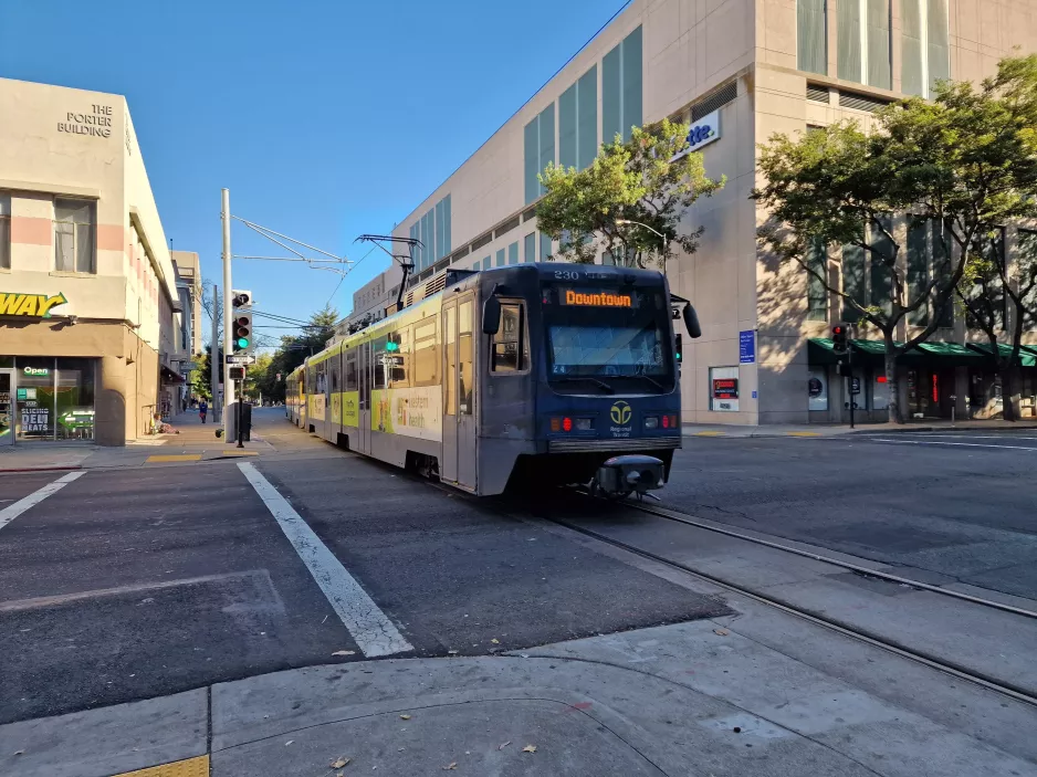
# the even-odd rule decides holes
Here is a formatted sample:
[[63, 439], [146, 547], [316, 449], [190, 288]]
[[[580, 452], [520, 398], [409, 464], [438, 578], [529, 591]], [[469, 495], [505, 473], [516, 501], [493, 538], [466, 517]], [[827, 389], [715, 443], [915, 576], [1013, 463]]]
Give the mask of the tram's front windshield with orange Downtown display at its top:
[[[545, 294], [548, 381], [566, 391], [657, 393], [673, 387], [661, 292]], [[572, 384], [572, 386], [569, 386]]]

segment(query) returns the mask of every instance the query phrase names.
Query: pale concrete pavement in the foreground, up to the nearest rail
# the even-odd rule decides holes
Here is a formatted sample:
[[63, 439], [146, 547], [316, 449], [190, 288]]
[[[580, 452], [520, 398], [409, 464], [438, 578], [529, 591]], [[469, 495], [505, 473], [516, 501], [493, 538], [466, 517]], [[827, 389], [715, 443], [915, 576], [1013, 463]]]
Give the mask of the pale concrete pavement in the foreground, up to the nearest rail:
[[0, 774], [1037, 775], [1033, 707], [740, 608], [507, 655], [339, 659], [13, 723]]

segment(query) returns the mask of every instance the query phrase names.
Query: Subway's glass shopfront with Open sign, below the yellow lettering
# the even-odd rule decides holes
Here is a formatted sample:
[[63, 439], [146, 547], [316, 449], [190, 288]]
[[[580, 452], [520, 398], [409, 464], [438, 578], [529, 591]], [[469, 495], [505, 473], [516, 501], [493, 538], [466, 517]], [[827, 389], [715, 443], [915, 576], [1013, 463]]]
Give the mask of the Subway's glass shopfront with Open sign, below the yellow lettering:
[[0, 356], [0, 445], [92, 441], [97, 359]]

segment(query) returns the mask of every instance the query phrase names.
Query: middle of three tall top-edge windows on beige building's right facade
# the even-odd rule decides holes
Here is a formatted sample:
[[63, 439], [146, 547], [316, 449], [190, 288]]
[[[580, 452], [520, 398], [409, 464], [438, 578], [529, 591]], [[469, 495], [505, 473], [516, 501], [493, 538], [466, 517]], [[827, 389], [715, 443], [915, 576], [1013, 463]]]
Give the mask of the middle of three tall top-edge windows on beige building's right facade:
[[889, 0], [846, 0], [838, 14], [839, 77], [891, 88]]

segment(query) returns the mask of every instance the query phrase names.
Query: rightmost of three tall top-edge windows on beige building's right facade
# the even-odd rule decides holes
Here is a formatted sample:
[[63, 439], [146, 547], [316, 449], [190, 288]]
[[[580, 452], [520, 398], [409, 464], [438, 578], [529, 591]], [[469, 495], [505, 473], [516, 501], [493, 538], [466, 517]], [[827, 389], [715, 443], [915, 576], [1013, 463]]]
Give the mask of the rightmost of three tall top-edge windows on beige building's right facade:
[[901, 91], [931, 97], [951, 77], [946, 0], [901, 0]]

